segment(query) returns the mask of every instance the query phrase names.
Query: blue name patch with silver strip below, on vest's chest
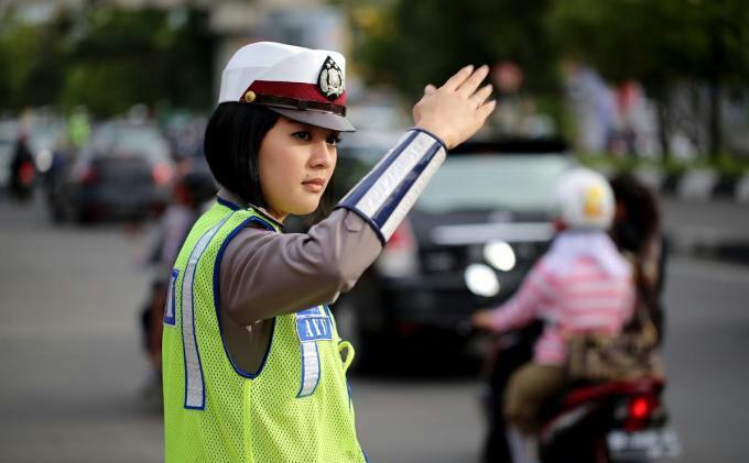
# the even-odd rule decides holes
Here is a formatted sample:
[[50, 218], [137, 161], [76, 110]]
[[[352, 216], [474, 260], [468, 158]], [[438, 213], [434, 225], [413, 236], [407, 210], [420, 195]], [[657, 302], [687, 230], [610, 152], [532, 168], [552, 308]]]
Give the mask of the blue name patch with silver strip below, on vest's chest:
[[314, 394], [319, 384], [321, 365], [317, 341], [333, 340], [333, 323], [325, 306], [317, 306], [296, 312], [296, 334], [302, 351], [302, 385], [297, 398]]

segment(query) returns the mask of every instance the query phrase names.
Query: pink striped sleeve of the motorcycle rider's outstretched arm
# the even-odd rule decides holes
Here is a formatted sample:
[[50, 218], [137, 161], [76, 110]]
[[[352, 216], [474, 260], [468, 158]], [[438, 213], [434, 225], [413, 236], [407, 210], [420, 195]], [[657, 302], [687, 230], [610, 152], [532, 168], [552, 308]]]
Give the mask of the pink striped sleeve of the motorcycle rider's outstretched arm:
[[495, 330], [509, 331], [530, 323], [545, 301], [549, 287], [549, 276], [540, 262], [528, 274], [520, 289], [495, 309], [491, 319]]

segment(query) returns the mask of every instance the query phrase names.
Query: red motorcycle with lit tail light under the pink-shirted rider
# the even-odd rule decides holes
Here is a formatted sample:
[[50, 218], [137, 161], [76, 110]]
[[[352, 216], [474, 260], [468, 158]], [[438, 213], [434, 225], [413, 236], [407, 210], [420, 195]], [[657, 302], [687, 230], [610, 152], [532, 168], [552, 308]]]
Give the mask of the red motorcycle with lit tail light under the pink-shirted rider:
[[[500, 337], [487, 364], [488, 433], [484, 461], [512, 462], [502, 418], [503, 390], [520, 365], [532, 357], [540, 323]], [[542, 463], [648, 463], [676, 458], [681, 443], [667, 427], [662, 400], [665, 382], [655, 378], [573, 383], [541, 410], [536, 454]]]

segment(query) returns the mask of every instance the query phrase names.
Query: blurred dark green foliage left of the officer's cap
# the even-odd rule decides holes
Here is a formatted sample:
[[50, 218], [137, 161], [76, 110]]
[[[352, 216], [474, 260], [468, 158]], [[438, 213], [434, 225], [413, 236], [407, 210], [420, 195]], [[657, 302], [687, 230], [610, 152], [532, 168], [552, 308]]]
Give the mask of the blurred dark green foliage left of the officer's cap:
[[213, 38], [194, 9], [59, 9], [50, 23], [0, 18], [3, 107], [84, 104], [97, 115], [151, 108], [203, 109], [211, 96]]

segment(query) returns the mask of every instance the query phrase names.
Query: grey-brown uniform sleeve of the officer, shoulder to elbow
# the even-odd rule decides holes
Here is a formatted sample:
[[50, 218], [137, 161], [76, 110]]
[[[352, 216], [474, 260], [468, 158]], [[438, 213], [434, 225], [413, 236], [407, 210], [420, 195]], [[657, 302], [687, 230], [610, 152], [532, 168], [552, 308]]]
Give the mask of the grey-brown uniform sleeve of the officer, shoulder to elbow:
[[307, 233], [247, 228], [227, 244], [219, 269], [220, 307], [250, 323], [334, 301], [374, 262], [376, 232], [345, 209]]

